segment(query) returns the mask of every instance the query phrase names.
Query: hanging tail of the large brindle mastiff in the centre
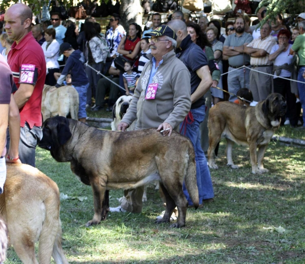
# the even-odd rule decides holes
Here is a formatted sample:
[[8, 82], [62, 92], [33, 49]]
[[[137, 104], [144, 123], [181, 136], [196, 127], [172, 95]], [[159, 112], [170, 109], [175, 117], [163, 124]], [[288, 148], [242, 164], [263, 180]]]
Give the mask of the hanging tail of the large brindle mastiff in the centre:
[[191, 140], [189, 140], [189, 160], [187, 174], [185, 178], [185, 183], [189, 195], [193, 201], [195, 209], [199, 206], [199, 193], [197, 186], [197, 177], [196, 177], [196, 161], [195, 161], [195, 151]]

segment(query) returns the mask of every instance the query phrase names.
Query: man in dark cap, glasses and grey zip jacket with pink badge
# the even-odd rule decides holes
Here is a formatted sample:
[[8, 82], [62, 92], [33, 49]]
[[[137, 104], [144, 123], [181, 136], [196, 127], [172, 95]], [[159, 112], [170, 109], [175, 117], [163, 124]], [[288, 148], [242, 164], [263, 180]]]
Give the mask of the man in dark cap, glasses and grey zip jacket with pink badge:
[[[136, 119], [135, 129], [156, 128], [170, 136], [191, 108], [191, 79], [187, 67], [175, 56], [176, 34], [167, 25], [157, 27], [151, 36], [148, 54], [131, 104], [117, 129], [125, 131]], [[140, 213], [144, 187], [125, 191], [121, 208]]]

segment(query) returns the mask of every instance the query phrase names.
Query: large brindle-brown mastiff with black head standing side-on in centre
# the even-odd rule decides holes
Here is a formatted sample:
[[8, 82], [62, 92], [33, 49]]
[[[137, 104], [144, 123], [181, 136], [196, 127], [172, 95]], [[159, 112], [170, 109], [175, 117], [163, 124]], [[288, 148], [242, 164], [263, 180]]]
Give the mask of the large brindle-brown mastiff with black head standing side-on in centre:
[[49, 150], [56, 161], [70, 162], [80, 180], [92, 186], [95, 214], [87, 226], [106, 218], [107, 190], [132, 189], [154, 180], [160, 181], [166, 197], [166, 213], [157, 223], [169, 222], [177, 206], [179, 216], [171, 227], [185, 226], [188, 202], [182, 192], [184, 180], [198, 207], [193, 145], [178, 133], [164, 137], [156, 129], [102, 131], [57, 116], [43, 123], [39, 146]]

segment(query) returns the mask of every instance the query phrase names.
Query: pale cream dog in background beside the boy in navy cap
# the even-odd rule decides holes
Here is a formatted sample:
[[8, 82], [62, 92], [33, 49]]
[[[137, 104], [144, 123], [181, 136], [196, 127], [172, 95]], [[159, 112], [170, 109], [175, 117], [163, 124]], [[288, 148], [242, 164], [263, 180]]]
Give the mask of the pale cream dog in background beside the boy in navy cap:
[[43, 120], [56, 115], [66, 118], [69, 113], [72, 119], [78, 120], [79, 98], [75, 88], [65, 85], [54, 90], [54, 87], [46, 84], [43, 87], [41, 102]]

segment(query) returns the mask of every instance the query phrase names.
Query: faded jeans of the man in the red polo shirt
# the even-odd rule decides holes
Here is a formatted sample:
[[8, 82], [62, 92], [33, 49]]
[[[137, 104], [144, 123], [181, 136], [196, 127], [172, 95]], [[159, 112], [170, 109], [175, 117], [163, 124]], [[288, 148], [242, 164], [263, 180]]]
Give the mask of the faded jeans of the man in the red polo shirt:
[[[32, 129], [27, 123], [20, 128], [19, 159], [22, 163], [35, 167], [36, 145], [42, 139], [42, 128], [34, 126]], [[10, 147], [10, 133], [7, 132], [7, 150]]]

